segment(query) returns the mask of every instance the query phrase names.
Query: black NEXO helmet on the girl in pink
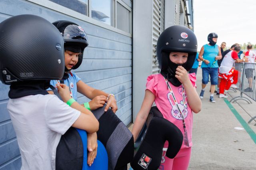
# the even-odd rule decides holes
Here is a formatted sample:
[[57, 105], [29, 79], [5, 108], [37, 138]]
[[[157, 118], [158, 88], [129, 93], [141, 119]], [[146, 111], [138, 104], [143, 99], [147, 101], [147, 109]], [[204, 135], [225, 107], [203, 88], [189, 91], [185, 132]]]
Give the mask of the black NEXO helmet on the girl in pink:
[[197, 53], [197, 40], [194, 32], [184, 26], [171, 26], [162, 32], [156, 45], [156, 56], [161, 70], [167, 70], [171, 51], [188, 53], [188, 61], [184, 68], [189, 71]]

